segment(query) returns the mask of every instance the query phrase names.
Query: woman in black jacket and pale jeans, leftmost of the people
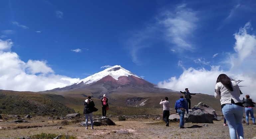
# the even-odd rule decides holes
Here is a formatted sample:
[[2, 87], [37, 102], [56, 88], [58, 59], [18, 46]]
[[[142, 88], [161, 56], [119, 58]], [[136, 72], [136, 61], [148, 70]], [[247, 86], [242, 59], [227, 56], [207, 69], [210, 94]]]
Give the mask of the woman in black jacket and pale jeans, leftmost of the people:
[[91, 122], [91, 129], [93, 129], [93, 120], [92, 120], [92, 112], [93, 112], [93, 107], [95, 106], [94, 102], [91, 100], [91, 96], [87, 96], [87, 99], [84, 101], [84, 109], [83, 109], [83, 114], [85, 114], [85, 125], [86, 128], [88, 129], [88, 117], [90, 117], [90, 122]]

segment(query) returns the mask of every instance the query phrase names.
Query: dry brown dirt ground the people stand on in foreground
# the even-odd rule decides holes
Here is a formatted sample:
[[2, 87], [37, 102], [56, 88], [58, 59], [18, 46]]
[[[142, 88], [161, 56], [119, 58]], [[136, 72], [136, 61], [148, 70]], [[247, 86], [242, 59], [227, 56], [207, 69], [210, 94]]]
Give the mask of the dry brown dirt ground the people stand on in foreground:
[[[74, 120], [68, 120], [68, 125], [63, 125], [63, 120], [48, 119], [48, 117], [33, 117], [27, 123], [11, 122], [15, 118], [1, 119], [0, 122], [0, 139], [17, 139], [19, 137], [27, 137], [34, 134], [55, 133], [73, 135], [78, 139], [228, 139], [228, 126], [223, 126], [222, 121], [214, 121], [213, 124], [203, 126], [204, 123], [185, 123], [185, 128], [180, 129], [179, 122], [170, 122], [169, 127], [165, 126], [162, 119], [154, 117], [149, 118], [128, 118], [126, 121], [119, 121], [117, 117], [110, 117], [116, 125], [111, 126], [94, 126], [94, 130], [90, 127], [80, 125], [80, 122], [73, 123]], [[83, 120], [83, 119], [81, 119]], [[245, 120], [245, 119], [244, 119]], [[83, 120], [85, 121], [85, 120]], [[186, 128], [192, 125], [203, 126], [201, 128]], [[256, 137], [256, 125], [243, 123], [244, 138], [252, 139]], [[128, 133], [117, 133], [123, 130]]]

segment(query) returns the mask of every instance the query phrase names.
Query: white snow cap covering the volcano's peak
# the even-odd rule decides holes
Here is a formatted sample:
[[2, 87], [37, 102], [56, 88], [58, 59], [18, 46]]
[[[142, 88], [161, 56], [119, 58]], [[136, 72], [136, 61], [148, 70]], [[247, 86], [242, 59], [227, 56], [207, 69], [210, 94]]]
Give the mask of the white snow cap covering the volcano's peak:
[[125, 70], [121, 66], [116, 65], [116, 66], [107, 68], [103, 71], [100, 71], [98, 73], [95, 73], [91, 76], [88, 76], [84, 79], [81, 79], [76, 84], [79, 84], [80, 82], [83, 82], [84, 84], [90, 84], [90, 83], [93, 83], [93, 82], [96, 82], [96, 81], [102, 79], [103, 77], [105, 77], [107, 75], [112, 76], [116, 80], [118, 80], [118, 78], [120, 76], [127, 76], [128, 77], [129, 75], [133, 75], [135, 77], [141, 78], [141, 77], [137, 76], [136, 74], [130, 72], [129, 70]]

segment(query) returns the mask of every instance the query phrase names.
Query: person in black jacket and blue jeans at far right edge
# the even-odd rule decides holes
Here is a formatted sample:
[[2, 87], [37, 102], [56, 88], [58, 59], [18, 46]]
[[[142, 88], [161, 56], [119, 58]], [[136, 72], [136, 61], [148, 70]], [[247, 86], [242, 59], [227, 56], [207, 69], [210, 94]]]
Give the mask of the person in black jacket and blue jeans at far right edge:
[[255, 125], [255, 118], [253, 116], [253, 108], [252, 108], [252, 107], [255, 107], [255, 105], [254, 105], [255, 102], [253, 102], [252, 99], [250, 99], [249, 95], [245, 95], [245, 98], [246, 99], [243, 99], [242, 104], [245, 104], [244, 110], [245, 110], [247, 125], [249, 125], [249, 113], [252, 117], [253, 124]]

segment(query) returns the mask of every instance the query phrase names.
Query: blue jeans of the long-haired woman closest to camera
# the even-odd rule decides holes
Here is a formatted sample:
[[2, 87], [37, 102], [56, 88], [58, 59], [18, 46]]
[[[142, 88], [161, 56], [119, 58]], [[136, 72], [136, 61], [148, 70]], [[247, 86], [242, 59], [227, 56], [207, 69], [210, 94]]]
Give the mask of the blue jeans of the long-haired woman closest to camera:
[[236, 132], [240, 139], [244, 138], [244, 129], [242, 126], [243, 107], [235, 104], [225, 104], [222, 113], [227, 120], [229, 135], [231, 139], [237, 139]]

